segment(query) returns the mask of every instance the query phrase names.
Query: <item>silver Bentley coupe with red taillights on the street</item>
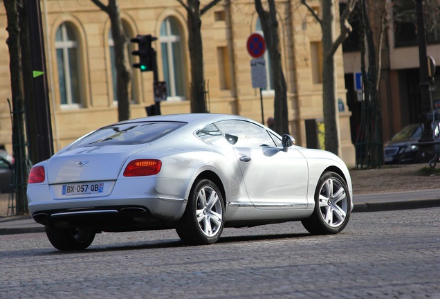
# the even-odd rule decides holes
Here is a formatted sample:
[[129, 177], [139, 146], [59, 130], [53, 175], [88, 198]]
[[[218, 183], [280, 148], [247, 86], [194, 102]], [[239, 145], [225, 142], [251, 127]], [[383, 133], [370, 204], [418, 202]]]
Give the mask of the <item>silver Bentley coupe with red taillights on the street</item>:
[[59, 250], [102, 231], [174, 228], [212, 244], [223, 227], [300, 220], [312, 234], [345, 228], [353, 208], [345, 163], [253, 120], [151, 116], [108, 125], [30, 170], [29, 210]]

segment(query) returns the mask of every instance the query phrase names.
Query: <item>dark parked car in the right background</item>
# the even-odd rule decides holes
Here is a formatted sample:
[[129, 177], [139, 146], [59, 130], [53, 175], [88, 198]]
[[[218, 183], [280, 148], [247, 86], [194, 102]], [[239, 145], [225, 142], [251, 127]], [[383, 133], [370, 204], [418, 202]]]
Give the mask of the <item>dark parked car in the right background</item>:
[[[435, 129], [435, 132], [438, 134], [439, 128]], [[417, 145], [414, 145], [419, 141], [422, 133], [423, 127], [420, 124], [404, 127], [385, 145], [384, 162], [387, 164], [410, 164], [430, 161], [434, 155], [422, 152]]]

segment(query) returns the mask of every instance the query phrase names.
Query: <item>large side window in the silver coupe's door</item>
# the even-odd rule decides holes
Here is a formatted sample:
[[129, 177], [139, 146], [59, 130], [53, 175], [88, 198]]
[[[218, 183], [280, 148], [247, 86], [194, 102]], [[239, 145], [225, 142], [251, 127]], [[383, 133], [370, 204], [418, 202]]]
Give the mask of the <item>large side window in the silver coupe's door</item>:
[[226, 137], [228, 143], [237, 147], [275, 146], [274, 141], [264, 127], [246, 120], [223, 120], [215, 125]]

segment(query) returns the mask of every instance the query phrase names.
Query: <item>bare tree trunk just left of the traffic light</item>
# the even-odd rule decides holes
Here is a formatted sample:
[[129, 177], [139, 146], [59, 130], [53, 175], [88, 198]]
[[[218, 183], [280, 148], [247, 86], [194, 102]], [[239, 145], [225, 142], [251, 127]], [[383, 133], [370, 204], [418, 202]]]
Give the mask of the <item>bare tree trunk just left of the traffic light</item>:
[[[118, 0], [109, 0], [105, 6], [100, 0], [91, 0], [98, 8], [109, 15], [111, 23], [111, 37], [115, 48], [116, 65], [116, 96], [118, 98], [118, 120], [130, 118], [129, 85], [131, 81], [131, 67], [129, 66], [127, 37], [124, 34]], [[115, 84], [115, 82], [113, 82]]]

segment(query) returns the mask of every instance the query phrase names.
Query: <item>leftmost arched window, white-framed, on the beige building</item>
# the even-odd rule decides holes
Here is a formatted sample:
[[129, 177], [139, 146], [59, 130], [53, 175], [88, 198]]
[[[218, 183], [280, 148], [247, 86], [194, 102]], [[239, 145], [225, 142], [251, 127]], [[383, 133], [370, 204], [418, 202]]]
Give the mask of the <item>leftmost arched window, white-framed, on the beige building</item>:
[[81, 104], [81, 84], [78, 41], [75, 31], [67, 23], [59, 26], [55, 35], [59, 98], [61, 105], [79, 107]]

